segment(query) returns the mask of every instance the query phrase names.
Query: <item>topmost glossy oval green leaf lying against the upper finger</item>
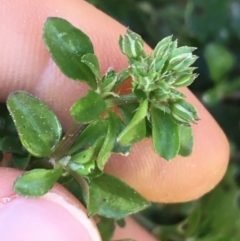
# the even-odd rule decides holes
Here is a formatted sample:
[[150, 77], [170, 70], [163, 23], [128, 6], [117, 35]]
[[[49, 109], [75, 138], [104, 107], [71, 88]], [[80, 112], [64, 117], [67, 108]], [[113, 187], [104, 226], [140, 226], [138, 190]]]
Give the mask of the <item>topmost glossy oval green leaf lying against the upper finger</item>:
[[53, 60], [69, 78], [97, 87], [91, 69], [81, 61], [83, 55], [94, 53], [89, 37], [68, 21], [48, 18], [43, 29], [43, 39]]

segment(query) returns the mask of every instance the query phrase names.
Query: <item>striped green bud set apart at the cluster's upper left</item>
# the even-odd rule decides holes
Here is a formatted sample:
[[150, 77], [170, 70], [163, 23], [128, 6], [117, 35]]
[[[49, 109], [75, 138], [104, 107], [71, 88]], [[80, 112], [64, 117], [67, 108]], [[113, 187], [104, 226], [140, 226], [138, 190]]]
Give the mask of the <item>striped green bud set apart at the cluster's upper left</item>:
[[127, 30], [127, 33], [119, 38], [119, 45], [121, 51], [127, 55], [130, 59], [139, 59], [140, 57], [145, 56], [143, 51], [143, 40], [142, 38], [132, 32], [131, 30]]

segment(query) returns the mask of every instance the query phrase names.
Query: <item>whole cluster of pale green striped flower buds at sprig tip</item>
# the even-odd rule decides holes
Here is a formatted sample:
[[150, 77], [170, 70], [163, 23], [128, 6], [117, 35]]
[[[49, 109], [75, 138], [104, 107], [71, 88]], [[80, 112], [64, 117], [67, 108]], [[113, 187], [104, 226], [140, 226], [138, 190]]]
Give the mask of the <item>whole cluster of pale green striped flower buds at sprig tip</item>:
[[130, 30], [120, 38], [119, 44], [129, 59], [134, 93], [144, 92], [150, 106], [168, 112], [178, 124], [189, 125], [199, 119], [195, 107], [184, 101], [185, 95], [176, 90], [189, 86], [197, 77], [193, 73], [195, 68], [190, 67], [197, 59], [192, 54], [195, 48], [178, 47], [170, 36], [147, 55], [142, 38]]

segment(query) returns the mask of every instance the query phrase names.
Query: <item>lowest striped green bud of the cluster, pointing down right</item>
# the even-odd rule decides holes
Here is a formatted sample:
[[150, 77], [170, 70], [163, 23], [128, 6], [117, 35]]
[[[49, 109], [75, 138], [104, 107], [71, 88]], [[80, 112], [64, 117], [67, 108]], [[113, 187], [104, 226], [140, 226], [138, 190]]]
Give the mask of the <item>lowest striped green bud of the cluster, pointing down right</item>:
[[178, 100], [170, 104], [172, 116], [179, 117], [187, 122], [195, 122], [199, 120], [196, 108], [184, 100]]

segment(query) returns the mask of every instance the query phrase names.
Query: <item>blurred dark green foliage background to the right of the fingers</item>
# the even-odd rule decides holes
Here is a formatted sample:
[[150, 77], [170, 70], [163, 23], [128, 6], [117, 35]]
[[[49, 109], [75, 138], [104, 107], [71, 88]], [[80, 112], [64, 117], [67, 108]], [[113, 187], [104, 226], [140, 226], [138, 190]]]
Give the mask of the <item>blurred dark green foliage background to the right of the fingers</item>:
[[190, 88], [231, 145], [229, 170], [212, 192], [190, 203], [153, 204], [136, 219], [162, 241], [239, 241], [240, 0], [88, 2], [139, 33], [151, 47], [168, 35], [179, 45], [197, 47], [200, 75]]

